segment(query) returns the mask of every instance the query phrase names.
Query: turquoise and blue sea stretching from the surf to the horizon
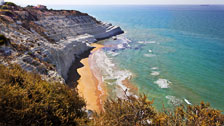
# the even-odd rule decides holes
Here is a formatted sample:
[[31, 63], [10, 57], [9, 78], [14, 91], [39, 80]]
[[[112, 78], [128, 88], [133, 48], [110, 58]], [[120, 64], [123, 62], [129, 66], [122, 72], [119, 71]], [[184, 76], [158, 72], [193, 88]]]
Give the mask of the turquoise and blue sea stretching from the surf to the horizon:
[[107, 56], [102, 62], [108, 61], [99, 69], [112, 69], [103, 74], [110, 87], [131, 74], [131, 82], [158, 108], [205, 101], [224, 110], [224, 6], [63, 8], [125, 31], [116, 41], [104, 41], [110, 47], [101, 52]]

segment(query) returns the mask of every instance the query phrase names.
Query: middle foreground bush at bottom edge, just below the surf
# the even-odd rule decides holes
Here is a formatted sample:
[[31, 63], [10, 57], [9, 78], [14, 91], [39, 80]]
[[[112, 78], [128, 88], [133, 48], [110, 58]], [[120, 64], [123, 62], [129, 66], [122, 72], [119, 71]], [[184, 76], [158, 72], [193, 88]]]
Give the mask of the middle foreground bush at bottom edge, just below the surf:
[[152, 101], [146, 96], [139, 99], [127, 96], [127, 99], [107, 100], [105, 112], [95, 115], [92, 125], [95, 126], [142, 126], [160, 121]]

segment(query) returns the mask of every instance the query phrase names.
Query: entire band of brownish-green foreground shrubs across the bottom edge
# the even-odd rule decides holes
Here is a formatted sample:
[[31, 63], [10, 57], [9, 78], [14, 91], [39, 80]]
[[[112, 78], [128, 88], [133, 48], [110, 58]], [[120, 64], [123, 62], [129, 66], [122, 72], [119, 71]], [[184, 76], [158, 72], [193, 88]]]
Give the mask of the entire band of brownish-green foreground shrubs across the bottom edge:
[[87, 117], [74, 89], [49, 83], [17, 65], [0, 65], [0, 125], [221, 126], [221, 111], [201, 103], [158, 112], [146, 96], [107, 100], [104, 112]]

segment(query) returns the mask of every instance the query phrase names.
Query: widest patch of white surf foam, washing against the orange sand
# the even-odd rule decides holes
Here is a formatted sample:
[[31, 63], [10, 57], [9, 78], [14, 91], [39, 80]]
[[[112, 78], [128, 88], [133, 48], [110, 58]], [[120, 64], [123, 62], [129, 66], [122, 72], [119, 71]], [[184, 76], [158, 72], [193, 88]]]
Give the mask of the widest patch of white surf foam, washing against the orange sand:
[[91, 69], [93, 72], [97, 73], [98, 76], [100, 75], [102, 82], [107, 81], [110, 85], [117, 85], [115, 92], [118, 97], [124, 98], [124, 91], [127, 91], [127, 95], [131, 95], [128, 91], [129, 89], [122, 83], [122, 81], [131, 78], [131, 72], [118, 69], [102, 50], [94, 52], [91, 55], [90, 60]]

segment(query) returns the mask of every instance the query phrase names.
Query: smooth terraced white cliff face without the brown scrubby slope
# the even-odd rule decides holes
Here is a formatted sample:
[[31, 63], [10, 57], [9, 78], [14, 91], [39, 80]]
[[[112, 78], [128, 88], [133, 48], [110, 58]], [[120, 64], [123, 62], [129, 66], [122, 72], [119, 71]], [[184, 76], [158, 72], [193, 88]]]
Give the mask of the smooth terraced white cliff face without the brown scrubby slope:
[[75, 60], [74, 55], [90, 49], [86, 43], [123, 32], [120, 27], [96, 22], [90, 16], [48, 16], [36, 23], [45, 28], [49, 38], [56, 41], [57, 44], [49, 45], [49, 57], [64, 79], [67, 79], [69, 67]]

